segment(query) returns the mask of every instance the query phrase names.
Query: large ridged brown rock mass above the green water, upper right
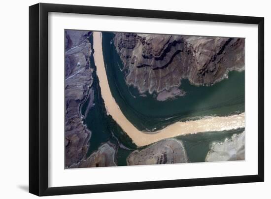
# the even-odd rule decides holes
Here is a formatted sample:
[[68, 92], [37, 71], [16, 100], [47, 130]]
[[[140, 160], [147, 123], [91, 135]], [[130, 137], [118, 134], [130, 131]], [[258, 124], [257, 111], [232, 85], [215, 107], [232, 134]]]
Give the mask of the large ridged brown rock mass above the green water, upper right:
[[115, 33], [114, 45], [126, 83], [140, 94], [170, 92], [183, 78], [212, 85], [244, 69], [244, 38]]

